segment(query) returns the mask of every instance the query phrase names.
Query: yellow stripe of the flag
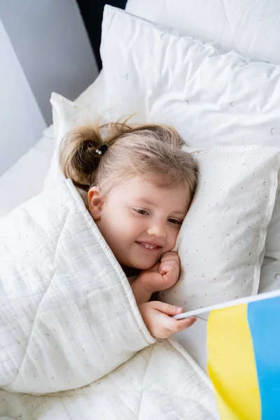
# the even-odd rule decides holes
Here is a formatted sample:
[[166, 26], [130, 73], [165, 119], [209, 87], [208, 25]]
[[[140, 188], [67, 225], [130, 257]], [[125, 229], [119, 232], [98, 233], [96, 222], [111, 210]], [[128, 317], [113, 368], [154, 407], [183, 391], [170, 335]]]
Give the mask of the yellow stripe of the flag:
[[260, 393], [247, 304], [210, 312], [207, 347], [207, 368], [221, 420], [260, 420]]

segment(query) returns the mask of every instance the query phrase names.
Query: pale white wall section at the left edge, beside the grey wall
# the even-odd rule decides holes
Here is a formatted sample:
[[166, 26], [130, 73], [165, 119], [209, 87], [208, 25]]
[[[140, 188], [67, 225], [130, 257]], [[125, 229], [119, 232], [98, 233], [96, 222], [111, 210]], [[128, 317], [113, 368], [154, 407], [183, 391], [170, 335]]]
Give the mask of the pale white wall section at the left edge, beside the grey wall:
[[40, 139], [45, 120], [0, 20], [0, 176]]

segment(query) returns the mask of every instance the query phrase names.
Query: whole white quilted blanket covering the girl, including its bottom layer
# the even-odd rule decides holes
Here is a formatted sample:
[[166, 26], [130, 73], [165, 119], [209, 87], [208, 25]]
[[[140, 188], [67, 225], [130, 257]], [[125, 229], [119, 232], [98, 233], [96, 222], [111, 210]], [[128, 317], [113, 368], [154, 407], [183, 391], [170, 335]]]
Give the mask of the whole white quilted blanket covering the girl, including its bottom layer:
[[155, 342], [70, 180], [0, 221], [1, 419], [215, 419], [211, 384]]

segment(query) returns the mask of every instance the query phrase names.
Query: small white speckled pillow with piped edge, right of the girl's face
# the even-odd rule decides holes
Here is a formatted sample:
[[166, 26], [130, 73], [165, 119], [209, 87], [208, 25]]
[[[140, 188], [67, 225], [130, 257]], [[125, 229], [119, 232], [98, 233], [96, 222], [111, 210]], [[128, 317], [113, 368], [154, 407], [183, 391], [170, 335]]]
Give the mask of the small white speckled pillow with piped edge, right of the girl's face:
[[177, 240], [181, 276], [160, 300], [184, 310], [258, 293], [279, 149], [218, 147], [194, 154], [200, 178]]

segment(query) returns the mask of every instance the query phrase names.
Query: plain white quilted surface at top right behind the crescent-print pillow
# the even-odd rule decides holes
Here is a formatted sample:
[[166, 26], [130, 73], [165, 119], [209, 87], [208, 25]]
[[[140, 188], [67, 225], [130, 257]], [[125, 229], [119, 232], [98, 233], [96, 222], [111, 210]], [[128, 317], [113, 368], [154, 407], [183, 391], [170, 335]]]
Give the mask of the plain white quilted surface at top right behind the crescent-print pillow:
[[280, 64], [280, 3], [276, 0], [128, 0], [126, 10], [225, 50]]

